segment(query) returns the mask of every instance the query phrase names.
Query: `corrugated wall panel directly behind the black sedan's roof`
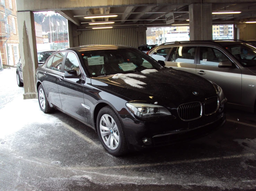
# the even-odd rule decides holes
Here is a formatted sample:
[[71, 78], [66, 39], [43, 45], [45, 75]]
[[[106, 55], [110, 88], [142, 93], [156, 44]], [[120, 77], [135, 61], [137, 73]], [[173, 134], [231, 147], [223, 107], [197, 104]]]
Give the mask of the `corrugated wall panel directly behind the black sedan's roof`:
[[135, 28], [98, 29], [82, 31], [79, 45], [111, 44], [138, 48], [138, 32]]

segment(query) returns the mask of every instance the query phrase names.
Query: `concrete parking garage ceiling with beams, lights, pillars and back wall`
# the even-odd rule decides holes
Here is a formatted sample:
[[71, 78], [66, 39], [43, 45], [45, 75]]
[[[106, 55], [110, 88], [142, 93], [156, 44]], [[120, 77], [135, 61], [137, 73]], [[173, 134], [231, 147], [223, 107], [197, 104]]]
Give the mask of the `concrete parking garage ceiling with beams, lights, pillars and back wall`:
[[[178, 24], [189, 24], [191, 40], [212, 40], [213, 24], [235, 24], [235, 38], [256, 38], [256, 24], [246, 23], [256, 19], [254, 0], [19, 0], [17, 11], [24, 99], [37, 95], [33, 12], [56, 11], [67, 18], [70, 47], [88, 44], [138, 47], [146, 43], [147, 27]], [[174, 13], [174, 22], [166, 24], [165, 15], [170, 12]], [[92, 16], [96, 18], [86, 18]]]

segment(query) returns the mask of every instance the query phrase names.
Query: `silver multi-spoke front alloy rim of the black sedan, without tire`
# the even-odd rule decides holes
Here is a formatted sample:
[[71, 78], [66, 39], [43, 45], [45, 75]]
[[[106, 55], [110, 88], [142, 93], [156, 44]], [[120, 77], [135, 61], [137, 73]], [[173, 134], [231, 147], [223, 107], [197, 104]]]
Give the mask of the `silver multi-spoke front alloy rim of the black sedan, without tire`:
[[119, 131], [115, 120], [108, 114], [102, 115], [99, 122], [101, 138], [109, 149], [115, 150], [119, 145]]

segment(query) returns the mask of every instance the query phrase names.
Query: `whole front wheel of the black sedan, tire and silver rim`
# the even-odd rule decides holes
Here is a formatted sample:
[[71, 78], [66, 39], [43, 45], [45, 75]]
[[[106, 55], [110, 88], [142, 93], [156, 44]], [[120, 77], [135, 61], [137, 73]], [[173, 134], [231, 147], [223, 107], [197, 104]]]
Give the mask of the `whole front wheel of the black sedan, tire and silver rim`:
[[97, 132], [101, 144], [108, 153], [120, 156], [128, 152], [122, 123], [111, 107], [106, 106], [99, 111]]

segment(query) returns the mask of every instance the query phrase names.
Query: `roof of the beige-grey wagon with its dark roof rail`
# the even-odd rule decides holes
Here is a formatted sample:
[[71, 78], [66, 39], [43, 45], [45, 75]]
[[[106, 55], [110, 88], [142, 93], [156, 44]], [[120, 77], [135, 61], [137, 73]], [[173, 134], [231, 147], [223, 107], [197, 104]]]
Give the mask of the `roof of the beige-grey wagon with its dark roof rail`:
[[220, 46], [230, 46], [236, 44], [250, 43], [245, 40], [194, 40], [194, 41], [175, 41], [175, 42], [166, 42], [160, 44], [160, 47], [169, 47], [169, 46], [180, 46], [180, 45], [220, 45]]

